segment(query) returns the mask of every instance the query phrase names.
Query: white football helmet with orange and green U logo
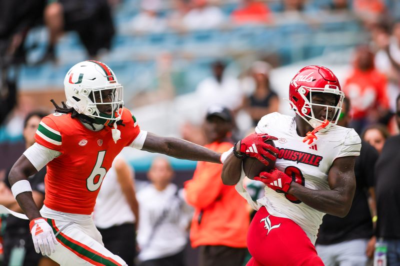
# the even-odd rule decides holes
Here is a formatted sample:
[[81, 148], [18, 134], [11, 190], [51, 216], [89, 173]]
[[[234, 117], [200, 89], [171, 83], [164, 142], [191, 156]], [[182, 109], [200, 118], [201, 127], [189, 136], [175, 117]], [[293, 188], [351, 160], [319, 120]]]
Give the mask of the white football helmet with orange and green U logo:
[[[66, 105], [78, 113], [96, 119], [102, 124], [119, 120], [123, 110], [123, 87], [118, 83], [114, 72], [104, 63], [87, 60], [72, 66], [64, 78]], [[111, 102], [96, 102], [94, 92], [101, 95], [102, 90], [113, 90]], [[97, 105], [112, 106], [112, 114], [100, 113]], [[109, 120], [109, 121], [107, 121]]]

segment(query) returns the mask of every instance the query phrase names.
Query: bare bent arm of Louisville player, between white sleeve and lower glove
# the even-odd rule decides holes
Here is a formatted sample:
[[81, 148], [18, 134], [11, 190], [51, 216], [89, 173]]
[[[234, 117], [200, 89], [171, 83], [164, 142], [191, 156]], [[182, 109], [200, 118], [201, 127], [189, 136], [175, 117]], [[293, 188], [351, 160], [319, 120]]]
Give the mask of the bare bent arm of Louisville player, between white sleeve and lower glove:
[[354, 156], [334, 160], [328, 173], [330, 190], [312, 190], [291, 182], [287, 192], [320, 212], [345, 217], [355, 191], [354, 162]]

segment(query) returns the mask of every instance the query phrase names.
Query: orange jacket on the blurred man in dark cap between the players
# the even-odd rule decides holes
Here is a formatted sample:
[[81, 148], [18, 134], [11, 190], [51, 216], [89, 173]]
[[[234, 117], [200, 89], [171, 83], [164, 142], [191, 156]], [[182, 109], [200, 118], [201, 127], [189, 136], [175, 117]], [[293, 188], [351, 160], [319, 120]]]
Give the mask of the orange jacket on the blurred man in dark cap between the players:
[[[232, 148], [232, 144], [213, 142], [204, 147], [225, 152]], [[250, 224], [247, 203], [234, 186], [222, 183], [221, 172], [221, 164], [198, 162], [193, 179], [184, 183], [186, 202], [195, 208], [190, 227], [192, 247], [246, 247]]]

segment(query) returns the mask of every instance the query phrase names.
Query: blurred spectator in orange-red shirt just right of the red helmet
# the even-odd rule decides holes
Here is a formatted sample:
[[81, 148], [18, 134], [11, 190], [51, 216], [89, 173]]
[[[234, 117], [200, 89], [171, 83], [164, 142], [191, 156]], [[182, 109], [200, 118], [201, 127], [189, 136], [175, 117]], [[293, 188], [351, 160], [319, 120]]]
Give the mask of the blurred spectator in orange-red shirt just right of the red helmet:
[[387, 114], [386, 85], [386, 78], [374, 67], [373, 53], [367, 46], [357, 47], [353, 70], [344, 83], [343, 91], [351, 101], [350, 127], [358, 134]]

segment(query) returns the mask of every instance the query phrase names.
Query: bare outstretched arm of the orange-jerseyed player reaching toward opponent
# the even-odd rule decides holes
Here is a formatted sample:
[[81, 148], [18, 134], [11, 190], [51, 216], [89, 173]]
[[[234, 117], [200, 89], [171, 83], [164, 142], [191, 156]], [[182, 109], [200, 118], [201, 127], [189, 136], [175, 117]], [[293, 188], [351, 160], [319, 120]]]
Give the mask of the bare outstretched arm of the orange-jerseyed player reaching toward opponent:
[[179, 159], [205, 161], [220, 164], [220, 153], [200, 145], [172, 137], [160, 137], [147, 133], [142, 150], [166, 154]]

